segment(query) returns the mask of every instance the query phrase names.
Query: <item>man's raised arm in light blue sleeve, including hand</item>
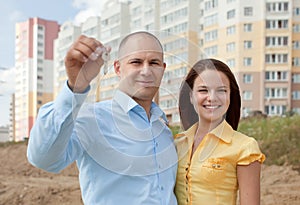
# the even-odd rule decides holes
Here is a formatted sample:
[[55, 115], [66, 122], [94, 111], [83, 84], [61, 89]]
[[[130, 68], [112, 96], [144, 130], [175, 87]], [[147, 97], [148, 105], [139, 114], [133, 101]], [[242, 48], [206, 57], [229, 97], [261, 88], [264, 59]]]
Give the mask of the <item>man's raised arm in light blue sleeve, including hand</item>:
[[74, 125], [89, 84], [103, 65], [101, 55], [105, 50], [99, 41], [84, 35], [68, 50], [68, 83], [54, 102], [40, 108], [30, 133], [27, 156], [34, 166], [59, 172], [82, 151]]

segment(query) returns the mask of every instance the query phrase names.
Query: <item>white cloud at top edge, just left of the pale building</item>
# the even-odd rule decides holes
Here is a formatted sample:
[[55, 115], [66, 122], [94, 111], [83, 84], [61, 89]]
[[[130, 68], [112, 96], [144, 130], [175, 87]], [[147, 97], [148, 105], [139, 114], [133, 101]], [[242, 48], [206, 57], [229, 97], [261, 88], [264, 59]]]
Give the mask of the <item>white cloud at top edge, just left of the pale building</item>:
[[90, 16], [100, 16], [106, 1], [107, 0], [73, 0], [72, 5], [80, 10], [74, 18], [74, 23], [78, 25]]

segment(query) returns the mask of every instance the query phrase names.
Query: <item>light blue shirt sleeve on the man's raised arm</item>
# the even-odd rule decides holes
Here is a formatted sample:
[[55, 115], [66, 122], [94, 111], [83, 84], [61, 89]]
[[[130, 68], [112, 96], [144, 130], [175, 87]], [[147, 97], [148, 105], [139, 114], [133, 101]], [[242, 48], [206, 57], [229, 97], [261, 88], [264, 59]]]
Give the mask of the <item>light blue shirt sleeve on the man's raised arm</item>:
[[66, 82], [56, 100], [39, 109], [27, 148], [27, 158], [32, 165], [59, 172], [82, 152], [74, 124], [89, 89], [82, 94], [73, 93]]

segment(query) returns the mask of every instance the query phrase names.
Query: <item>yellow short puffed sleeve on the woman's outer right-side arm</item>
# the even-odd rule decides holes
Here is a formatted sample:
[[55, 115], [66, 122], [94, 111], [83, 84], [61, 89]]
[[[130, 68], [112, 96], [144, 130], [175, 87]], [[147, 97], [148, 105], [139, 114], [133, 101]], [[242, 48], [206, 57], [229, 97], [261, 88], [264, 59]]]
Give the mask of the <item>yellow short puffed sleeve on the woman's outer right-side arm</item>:
[[242, 147], [239, 153], [237, 164], [249, 165], [254, 161], [263, 163], [265, 161], [265, 155], [260, 151], [257, 141], [249, 137], [248, 143]]

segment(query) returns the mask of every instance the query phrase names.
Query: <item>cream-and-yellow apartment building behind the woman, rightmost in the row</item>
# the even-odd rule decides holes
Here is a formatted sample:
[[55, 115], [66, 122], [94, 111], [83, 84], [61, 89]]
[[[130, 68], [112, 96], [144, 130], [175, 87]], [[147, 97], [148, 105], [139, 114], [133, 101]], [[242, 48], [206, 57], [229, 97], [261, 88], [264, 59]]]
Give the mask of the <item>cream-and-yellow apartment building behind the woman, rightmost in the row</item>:
[[242, 116], [299, 112], [299, 1], [205, 0], [201, 8], [203, 57], [234, 71]]

